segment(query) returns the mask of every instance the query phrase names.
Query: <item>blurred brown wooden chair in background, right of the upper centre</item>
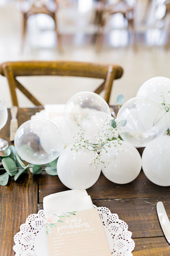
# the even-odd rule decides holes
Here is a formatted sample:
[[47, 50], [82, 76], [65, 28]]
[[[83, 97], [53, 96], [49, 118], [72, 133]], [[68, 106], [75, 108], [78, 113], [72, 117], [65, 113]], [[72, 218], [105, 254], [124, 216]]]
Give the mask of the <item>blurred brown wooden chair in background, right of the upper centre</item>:
[[[100, 0], [100, 4], [96, 7], [97, 15], [97, 35], [96, 35], [96, 52], [101, 51], [103, 44], [104, 28], [112, 15], [122, 14], [124, 19], [128, 21], [128, 30], [131, 29], [134, 33], [134, 7], [131, 7], [125, 0], [120, 0], [118, 3], [108, 5], [107, 0]], [[135, 37], [134, 37], [135, 39]], [[134, 42], [134, 48], [136, 44]]]

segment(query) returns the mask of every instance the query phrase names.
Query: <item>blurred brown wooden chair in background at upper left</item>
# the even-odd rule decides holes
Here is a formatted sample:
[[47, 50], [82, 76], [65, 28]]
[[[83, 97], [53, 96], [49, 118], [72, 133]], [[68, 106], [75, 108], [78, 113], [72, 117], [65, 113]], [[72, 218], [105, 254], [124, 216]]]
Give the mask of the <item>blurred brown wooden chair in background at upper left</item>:
[[[24, 1], [22, 1], [24, 3]], [[28, 6], [28, 8], [24, 8], [24, 5], [22, 7], [22, 3], [20, 6], [20, 10], [22, 12], [22, 51], [24, 48], [24, 43], [25, 43], [25, 35], [27, 31], [27, 22], [28, 18], [32, 15], [37, 15], [37, 14], [46, 14], [50, 16], [54, 20], [55, 24], [55, 31], [56, 31], [56, 37], [57, 37], [57, 46], [58, 46], [58, 51], [62, 53], [62, 43], [61, 43], [61, 36], [58, 32], [58, 24], [57, 24], [57, 11], [58, 11], [58, 3], [57, 0], [53, 0], [53, 5], [50, 6], [47, 3], [44, 2], [36, 2], [33, 1], [31, 6]]]

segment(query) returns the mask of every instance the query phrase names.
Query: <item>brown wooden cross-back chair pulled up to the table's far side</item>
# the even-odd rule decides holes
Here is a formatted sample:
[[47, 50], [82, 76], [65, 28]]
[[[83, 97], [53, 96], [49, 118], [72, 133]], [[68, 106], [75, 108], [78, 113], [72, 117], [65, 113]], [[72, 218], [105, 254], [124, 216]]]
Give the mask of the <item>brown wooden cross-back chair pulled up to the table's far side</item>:
[[123, 69], [114, 64], [95, 64], [74, 61], [12, 61], [0, 65], [0, 74], [6, 76], [10, 89], [12, 105], [18, 106], [16, 88], [33, 104], [43, 105], [16, 79], [19, 76], [76, 76], [104, 79], [95, 90], [99, 94], [105, 91], [104, 99], [109, 103], [114, 79], [122, 76]]

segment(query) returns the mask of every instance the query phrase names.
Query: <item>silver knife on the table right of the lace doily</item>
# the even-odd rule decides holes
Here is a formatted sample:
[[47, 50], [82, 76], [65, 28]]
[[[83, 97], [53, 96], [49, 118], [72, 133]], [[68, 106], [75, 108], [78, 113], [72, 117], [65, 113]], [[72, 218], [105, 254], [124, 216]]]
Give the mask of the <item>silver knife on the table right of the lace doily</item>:
[[166, 240], [168, 241], [168, 243], [170, 244], [170, 221], [169, 221], [168, 215], [165, 211], [164, 205], [161, 201], [159, 201], [156, 204], [156, 210], [158, 213], [160, 226], [163, 230], [164, 236], [165, 236]]

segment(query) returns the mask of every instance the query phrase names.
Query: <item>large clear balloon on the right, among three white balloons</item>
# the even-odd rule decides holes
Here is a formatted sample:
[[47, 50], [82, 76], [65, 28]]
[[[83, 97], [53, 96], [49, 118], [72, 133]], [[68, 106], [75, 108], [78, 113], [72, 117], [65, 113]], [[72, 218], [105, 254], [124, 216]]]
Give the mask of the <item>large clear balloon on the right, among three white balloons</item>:
[[163, 134], [166, 127], [165, 110], [159, 102], [148, 97], [135, 97], [126, 101], [117, 114], [117, 120], [126, 120], [120, 135], [135, 147], [145, 147]]

